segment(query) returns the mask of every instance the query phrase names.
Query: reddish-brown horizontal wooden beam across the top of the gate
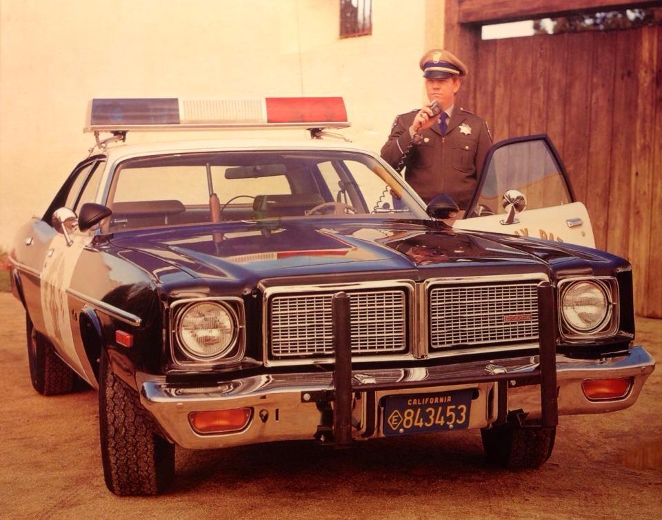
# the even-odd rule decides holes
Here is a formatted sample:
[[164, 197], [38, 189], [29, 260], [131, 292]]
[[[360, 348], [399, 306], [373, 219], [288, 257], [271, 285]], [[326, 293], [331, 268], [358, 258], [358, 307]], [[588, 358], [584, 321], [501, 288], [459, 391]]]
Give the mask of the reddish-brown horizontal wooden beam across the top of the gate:
[[659, 6], [660, 0], [625, 2], [623, 0], [459, 0], [459, 23], [504, 23], [508, 21], [562, 17], [578, 12], [620, 10]]

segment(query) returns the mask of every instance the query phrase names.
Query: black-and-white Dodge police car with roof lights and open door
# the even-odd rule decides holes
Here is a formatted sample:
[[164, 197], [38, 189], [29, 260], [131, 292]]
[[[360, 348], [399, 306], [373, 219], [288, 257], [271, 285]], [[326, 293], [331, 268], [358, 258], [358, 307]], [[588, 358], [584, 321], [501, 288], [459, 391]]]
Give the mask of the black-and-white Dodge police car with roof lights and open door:
[[[345, 126], [339, 98], [92, 101], [96, 146], [10, 261], [34, 389], [99, 389], [110, 491], [163, 490], [175, 444], [471, 429], [534, 468], [559, 416], [636, 401], [631, 266], [592, 248], [546, 137], [497, 143], [458, 218]], [[283, 127], [312, 139], [237, 139]], [[124, 143], [215, 129], [236, 132]]]

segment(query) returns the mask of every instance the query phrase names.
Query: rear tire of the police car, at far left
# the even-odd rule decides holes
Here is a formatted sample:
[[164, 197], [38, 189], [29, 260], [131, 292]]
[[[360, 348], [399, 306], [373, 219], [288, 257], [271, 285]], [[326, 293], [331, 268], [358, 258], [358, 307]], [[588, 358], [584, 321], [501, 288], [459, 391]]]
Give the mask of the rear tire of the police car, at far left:
[[74, 391], [77, 376], [55, 353], [55, 348], [37, 330], [26, 314], [26, 339], [32, 387], [42, 395], [61, 395]]

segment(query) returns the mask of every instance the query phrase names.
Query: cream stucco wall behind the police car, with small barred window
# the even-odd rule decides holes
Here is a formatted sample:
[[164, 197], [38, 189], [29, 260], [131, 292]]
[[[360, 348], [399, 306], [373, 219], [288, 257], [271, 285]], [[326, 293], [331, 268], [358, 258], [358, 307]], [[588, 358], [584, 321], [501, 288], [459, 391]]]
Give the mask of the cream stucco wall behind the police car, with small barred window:
[[339, 0], [0, 0], [0, 246], [86, 156], [93, 97], [340, 95], [343, 133], [379, 150], [423, 99], [443, 1], [373, 3], [372, 35], [339, 39]]

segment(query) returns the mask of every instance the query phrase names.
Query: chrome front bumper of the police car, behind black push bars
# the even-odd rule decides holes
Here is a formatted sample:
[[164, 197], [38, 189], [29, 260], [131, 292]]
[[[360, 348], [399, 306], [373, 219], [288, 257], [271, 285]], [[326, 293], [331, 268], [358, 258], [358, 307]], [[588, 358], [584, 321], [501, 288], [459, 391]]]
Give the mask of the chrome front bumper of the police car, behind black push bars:
[[[495, 365], [495, 363], [498, 363]], [[571, 359], [556, 354], [559, 414], [614, 412], [628, 408], [639, 397], [655, 361], [641, 346], [602, 359]], [[541, 411], [539, 384], [527, 375], [539, 368], [539, 357], [474, 361], [428, 368], [390, 368], [352, 372], [352, 437], [383, 437], [381, 398], [393, 394], [425, 394], [476, 388], [468, 428], [485, 428], [497, 419], [499, 388], [508, 387], [508, 410], [523, 410], [529, 417]], [[504, 372], [505, 370], [505, 372]], [[501, 381], [485, 381], [486, 374], [506, 374]], [[165, 377], [139, 372], [137, 388], [170, 440], [184, 448], [226, 448], [269, 441], [314, 439], [323, 418], [316, 396], [332, 391], [332, 372], [265, 374], [188, 388], [166, 383]], [[589, 401], [583, 394], [586, 379], [632, 378], [628, 394], [610, 401]], [[248, 426], [230, 434], [198, 434], [188, 421], [190, 412], [254, 410]], [[264, 410], [264, 412], [263, 412]], [[262, 412], [262, 413], [261, 413]], [[265, 419], [263, 419], [265, 418]]]

